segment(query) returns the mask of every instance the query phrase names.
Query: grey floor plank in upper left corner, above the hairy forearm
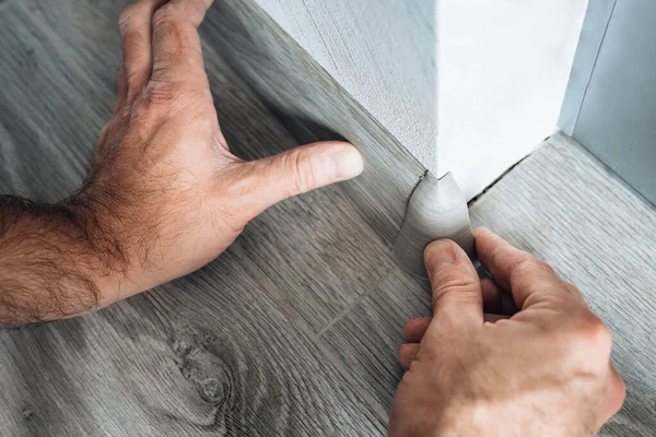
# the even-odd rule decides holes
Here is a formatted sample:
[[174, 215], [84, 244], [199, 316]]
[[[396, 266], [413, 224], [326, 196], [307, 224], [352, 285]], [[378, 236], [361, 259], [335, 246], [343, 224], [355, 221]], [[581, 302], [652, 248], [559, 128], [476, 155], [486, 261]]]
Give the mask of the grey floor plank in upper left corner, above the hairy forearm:
[[17, 3], [1, 13], [0, 188], [59, 200], [80, 187], [110, 110]]

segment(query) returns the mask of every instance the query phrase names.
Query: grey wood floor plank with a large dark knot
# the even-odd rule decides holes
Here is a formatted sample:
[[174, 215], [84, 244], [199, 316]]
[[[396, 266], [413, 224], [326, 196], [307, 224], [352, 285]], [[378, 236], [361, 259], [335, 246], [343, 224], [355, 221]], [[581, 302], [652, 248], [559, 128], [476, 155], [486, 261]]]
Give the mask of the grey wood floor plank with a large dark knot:
[[2, 332], [3, 434], [383, 434], [247, 262], [230, 252], [97, 314]]

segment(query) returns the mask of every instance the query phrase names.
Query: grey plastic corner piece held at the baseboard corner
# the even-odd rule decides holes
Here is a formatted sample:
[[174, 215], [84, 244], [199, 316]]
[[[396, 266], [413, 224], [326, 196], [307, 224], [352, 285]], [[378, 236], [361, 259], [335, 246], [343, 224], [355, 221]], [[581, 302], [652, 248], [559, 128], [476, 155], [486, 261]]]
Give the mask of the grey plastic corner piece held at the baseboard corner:
[[423, 252], [434, 239], [449, 238], [475, 259], [473, 232], [467, 200], [450, 173], [436, 178], [426, 172], [408, 202], [406, 220], [394, 246], [395, 261], [426, 279]]

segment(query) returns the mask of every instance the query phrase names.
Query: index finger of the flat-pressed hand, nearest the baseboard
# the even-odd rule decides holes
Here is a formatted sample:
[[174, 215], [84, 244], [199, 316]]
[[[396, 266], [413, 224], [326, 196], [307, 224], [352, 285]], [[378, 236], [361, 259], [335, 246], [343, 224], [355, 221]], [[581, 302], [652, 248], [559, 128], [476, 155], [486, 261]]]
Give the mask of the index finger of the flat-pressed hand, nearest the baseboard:
[[212, 0], [171, 0], [157, 9], [152, 19], [153, 80], [207, 83], [198, 26], [211, 4]]

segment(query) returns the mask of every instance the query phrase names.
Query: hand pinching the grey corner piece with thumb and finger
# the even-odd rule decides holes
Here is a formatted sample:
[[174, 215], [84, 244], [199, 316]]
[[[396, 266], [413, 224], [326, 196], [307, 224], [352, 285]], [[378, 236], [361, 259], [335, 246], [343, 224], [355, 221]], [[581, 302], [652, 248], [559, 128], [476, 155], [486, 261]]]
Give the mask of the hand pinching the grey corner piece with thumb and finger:
[[450, 240], [425, 250], [432, 318], [413, 319], [391, 436], [590, 436], [622, 405], [611, 336], [572, 284], [488, 229], [482, 280]]

